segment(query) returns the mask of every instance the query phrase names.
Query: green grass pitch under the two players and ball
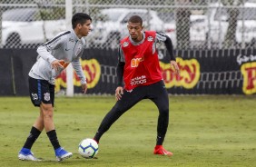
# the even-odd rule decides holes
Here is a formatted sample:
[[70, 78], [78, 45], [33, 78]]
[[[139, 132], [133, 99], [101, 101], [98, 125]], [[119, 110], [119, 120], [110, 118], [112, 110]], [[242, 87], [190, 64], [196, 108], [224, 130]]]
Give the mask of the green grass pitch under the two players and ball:
[[61, 145], [74, 156], [55, 162], [45, 132], [32, 151], [43, 162], [18, 161], [38, 114], [29, 97], [0, 97], [0, 166], [256, 166], [255, 96], [170, 96], [164, 147], [172, 157], [153, 155], [158, 112], [144, 100], [113, 124], [100, 142], [98, 159], [84, 159], [78, 143], [94, 137], [114, 103], [109, 97], [57, 97], [54, 123]]

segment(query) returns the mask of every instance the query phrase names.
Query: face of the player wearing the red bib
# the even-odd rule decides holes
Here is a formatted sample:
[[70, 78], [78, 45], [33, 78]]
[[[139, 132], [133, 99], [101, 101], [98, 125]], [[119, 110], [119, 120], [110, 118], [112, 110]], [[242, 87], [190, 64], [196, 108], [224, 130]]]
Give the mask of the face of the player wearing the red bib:
[[140, 23], [131, 23], [129, 22], [127, 25], [127, 28], [129, 30], [129, 34], [131, 35], [131, 38], [135, 42], [139, 42], [143, 40], [143, 26]]

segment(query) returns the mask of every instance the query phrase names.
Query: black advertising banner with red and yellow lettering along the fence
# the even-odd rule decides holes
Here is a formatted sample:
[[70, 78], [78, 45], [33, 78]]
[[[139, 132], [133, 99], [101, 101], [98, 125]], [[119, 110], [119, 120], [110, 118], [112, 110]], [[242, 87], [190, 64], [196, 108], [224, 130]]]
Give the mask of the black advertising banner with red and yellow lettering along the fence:
[[[255, 94], [256, 50], [175, 51], [181, 74], [174, 74], [165, 50], [159, 50], [162, 78], [172, 94]], [[27, 74], [36, 61], [34, 49], [2, 49], [0, 95], [28, 95]], [[81, 64], [89, 94], [113, 94], [117, 86], [117, 50], [86, 49]], [[66, 88], [65, 71], [56, 78], [55, 91]], [[74, 93], [81, 93], [74, 72]]]

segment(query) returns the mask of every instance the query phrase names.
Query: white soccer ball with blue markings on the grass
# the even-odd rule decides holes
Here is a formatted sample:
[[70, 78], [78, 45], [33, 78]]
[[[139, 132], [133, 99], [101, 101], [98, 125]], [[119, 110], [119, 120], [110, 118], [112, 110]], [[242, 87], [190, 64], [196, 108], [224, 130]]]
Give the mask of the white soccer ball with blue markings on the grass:
[[79, 143], [78, 152], [84, 158], [94, 158], [98, 151], [99, 146], [98, 143], [94, 141], [94, 139], [87, 138]]

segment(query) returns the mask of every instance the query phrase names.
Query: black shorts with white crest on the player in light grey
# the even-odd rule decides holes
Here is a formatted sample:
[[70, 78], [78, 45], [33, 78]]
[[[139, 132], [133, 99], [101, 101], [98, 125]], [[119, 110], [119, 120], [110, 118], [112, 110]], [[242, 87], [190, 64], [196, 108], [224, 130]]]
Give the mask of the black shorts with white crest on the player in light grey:
[[40, 106], [43, 103], [52, 103], [54, 106], [54, 84], [45, 80], [38, 80], [32, 77], [28, 78], [29, 95], [34, 106]]

